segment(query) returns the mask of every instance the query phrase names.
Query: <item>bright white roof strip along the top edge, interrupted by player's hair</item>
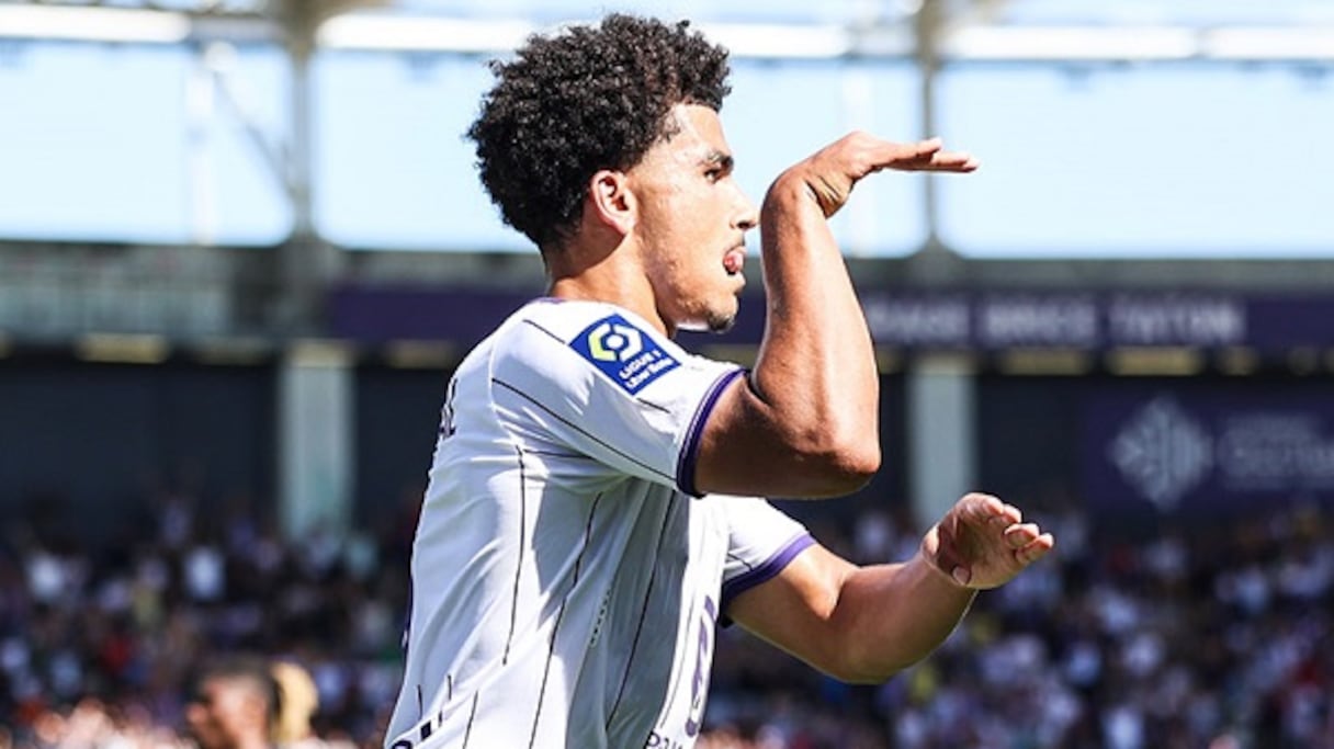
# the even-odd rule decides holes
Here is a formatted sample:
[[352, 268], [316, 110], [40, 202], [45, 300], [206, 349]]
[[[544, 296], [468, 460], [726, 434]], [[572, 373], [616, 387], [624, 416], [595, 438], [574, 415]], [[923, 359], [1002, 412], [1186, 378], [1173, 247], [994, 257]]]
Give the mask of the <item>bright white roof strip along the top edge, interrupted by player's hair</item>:
[[[508, 4], [479, 13], [476, 4], [407, 0], [160, 0], [139, 4], [0, 4], [0, 39], [125, 44], [273, 43], [297, 48], [382, 52], [498, 53], [562, 23], [546, 11]], [[700, 9], [699, 27], [739, 57], [878, 59], [928, 53], [948, 61], [1094, 60], [1334, 60], [1334, 17], [1301, 16], [1255, 24], [1202, 24], [1166, 15], [1106, 17], [1015, 12], [1018, 0], [924, 0], [875, 13], [791, 19], [740, 17]], [[508, 15], [504, 11], [508, 11]], [[556, 8], [560, 11], [560, 8]], [[1107, 11], [1111, 13], [1111, 11]], [[914, 23], [930, 16], [932, 23]], [[930, 35], [931, 39], [923, 39]]]

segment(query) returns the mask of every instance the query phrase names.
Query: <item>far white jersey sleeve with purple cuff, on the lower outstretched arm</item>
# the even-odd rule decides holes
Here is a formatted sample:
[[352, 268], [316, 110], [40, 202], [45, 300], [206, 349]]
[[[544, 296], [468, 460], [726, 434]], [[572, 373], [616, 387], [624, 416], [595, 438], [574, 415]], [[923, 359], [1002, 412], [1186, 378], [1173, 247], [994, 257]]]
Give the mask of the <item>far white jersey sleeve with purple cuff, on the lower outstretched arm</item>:
[[722, 608], [736, 596], [783, 572], [796, 554], [815, 544], [804, 525], [756, 497], [714, 496], [727, 514], [727, 562]]

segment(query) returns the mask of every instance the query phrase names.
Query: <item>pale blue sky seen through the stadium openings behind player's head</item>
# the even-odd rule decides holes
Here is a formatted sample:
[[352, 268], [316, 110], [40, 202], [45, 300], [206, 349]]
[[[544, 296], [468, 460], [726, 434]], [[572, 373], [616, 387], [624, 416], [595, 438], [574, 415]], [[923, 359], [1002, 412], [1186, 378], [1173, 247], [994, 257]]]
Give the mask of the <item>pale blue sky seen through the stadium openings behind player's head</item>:
[[[1041, 3], [1030, 4], [1041, 8]], [[257, 132], [289, 129], [280, 53], [215, 59]], [[0, 237], [272, 244], [292, 212], [241, 119], [184, 48], [0, 41]], [[460, 56], [321, 53], [315, 220], [355, 248], [527, 249], [462, 133], [490, 84]], [[755, 200], [851, 128], [918, 137], [908, 63], [734, 63], [723, 123]], [[939, 133], [983, 168], [943, 177], [940, 233], [976, 256], [1334, 257], [1334, 67], [948, 67]], [[850, 253], [926, 236], [922, 181], [880, 176]]]

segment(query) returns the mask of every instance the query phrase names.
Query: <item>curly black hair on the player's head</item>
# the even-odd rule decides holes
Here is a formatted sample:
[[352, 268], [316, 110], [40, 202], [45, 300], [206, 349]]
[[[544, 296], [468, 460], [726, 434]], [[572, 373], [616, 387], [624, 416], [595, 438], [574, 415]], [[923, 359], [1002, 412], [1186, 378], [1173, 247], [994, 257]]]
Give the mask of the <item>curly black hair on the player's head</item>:
[[559, 247], [594, 173], [628, 169], [671, 137], [676, 104], [722, 108], [727, 51], [688, 27], [614, 13], [534, 35], [514, 60], [491, 63], [496, 84], [468, 137], [507, 224], [543, 251]]

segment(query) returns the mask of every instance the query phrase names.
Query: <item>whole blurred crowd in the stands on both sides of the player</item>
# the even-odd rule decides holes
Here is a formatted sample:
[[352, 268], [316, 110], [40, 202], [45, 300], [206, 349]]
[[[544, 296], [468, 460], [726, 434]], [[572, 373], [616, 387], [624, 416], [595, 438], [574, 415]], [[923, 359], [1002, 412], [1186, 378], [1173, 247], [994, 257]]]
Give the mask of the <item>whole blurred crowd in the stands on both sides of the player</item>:
[[[209, 733], [228, 702], [209, 678], [223, 677], [260, 685], [272, 745], [379, 746], [415, 504], [376, 530], [296, 541], [252, 508], [200, 506], [163, 494], [97, 552], [7, 522], [0, 749], [221, 745]], [[804, 518], [862, 562], [915, 550], [906, 513], [855, 506]], [[979, 596], [936, 654], [884, 685], [840, 684], [723, 629], [699, 746], [1334, 749], [1329, 508], [1115, 538], [1073, 506], [1039, 520], [1057, 553]], [[256, 662], [268, 676], [241, 678]]]

